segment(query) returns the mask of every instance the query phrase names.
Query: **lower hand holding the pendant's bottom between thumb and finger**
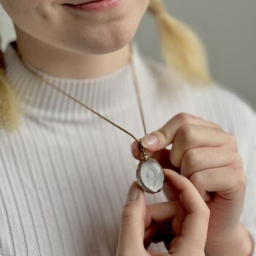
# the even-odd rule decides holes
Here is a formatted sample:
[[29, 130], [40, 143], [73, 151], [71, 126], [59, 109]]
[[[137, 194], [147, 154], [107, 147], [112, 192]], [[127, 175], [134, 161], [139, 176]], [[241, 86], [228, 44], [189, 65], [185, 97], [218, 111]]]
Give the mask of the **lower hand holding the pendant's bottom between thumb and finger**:
[[[165, 182], [176, 191], [176, 202], [157, 203], [146, 207], [143, 191], [132, 184], [121, 215], [116, 256], [204, 255], [209, 210], [192, 183], [172, 170], [165, 170]], [[157, 224], [173, 223], [176, 238], [169, 244], [169, 253], [149, 252]]]

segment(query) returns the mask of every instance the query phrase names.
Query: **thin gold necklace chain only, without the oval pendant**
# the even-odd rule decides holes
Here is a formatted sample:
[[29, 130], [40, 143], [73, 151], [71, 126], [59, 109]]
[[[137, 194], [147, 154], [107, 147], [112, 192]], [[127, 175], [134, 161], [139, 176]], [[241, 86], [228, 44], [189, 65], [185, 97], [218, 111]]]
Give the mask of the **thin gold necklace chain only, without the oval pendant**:
[[[121, 129], [123, 132], [126, 132], [128, 135], [130, 135], [132, 138], [134, 138], [136, 141], [138, 141], [140, 143], [140, 139], [136, 138], [134, 135], [132, 135], [131, 132], [128, 132], [126, 129], [119, 127], [118, 124], [113, 123], [113, 121], [110, 121], [108, 118], [105, 118], [105, 116], [102, 116], [101, 114], [97, 113], [95, 110], [93, 110], [92, 108], [89, 108], [87, 105], [83, 104], [83, 102], [80, 102], [78, 99], [75, 99], [74, 97], [72, 97], [71, 95], [67, 94], [65, 91], [62, 91], [61, 89], [59, 89], [55, 84], [50, 83], [50, 81], [46, 80], [45, 78], [42, 77], [42, 75], [39, 75], [37, 72], [34, 72], [34, 70], [32, 70], [25, 61], [23, 61], [23, 58], [21, 56], [21, 53], [18, 50], [17, 47], [17, 43], [16, 42], [12, 42], [13, 47], [15, 48], [15, 50], [18, 53], [18, 56], [20, 58], [20, 60], [22, 61], [23, 65], [29, 69], [30, 72], [32, 72], [34, 75], [37, 76], [37, 78], [45, 81], [45, 83], [47, 83], [49, 86], [53, 87], [54, 89], [56, 89], [57, 91], [61, 92], [61, 94], [66, 95], [67, 97], [69, 97], [70, 99], [74, 100], [75, 102], [77, 102], [78, 104], [82, 105], [84, 108], [87, 108], [88, 110], [90, 110], [91, 112], [95, 113], [97, 116], [105, 119], [105, 121], [108, 121], [110, 124], [113, 124], [113, 126], [117, 127], [118, 129]], [[137, 80], [137, 75], [135, 72], [135, 67], [134, 67], [134, 63], [133, 63], [133, 59], [132, 59], [133, 53], [132, 53], [132, 47], [131, 45], [129, 45], [129, 65], [131, 67], [132, 70], [132, 78], [133, 78], [133, 82], [135, 84], [135, 91], [137, 94], [137, 99], [138, 99], [138, 104], [139, 104], [139, 108], [140, 108], [140, 116], [141, 119], [143, 121], [143, 129], [146, 135], [146, 125], [145, 125], [145, 121], [144, 121], [144, 117], [143, 117], [143, 110], [142, 110], [142, 104], [141, 104], [141, 99], [140, 99], [140, 91], [138, 88], [138, 80]]]

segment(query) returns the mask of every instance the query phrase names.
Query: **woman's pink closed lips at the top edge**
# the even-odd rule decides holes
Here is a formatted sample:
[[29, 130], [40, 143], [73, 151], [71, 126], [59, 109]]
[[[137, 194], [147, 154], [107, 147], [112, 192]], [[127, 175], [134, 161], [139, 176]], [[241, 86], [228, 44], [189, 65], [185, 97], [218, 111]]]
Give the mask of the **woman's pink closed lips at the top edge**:
[[99, 10], [107, 10], [111, 7], [115, 7], [122, 0], [98, 0], [98, 1], [90, 1], [83, 4], [64, 4], [67, 7], [70, 7], [75, 10], [81, 11], [99, 11]]

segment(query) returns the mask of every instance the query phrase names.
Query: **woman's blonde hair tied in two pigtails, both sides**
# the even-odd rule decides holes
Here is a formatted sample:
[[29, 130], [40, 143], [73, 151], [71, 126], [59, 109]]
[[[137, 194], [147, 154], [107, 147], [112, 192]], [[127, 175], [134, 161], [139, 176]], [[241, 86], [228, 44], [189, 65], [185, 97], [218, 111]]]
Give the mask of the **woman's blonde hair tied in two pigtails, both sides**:
[[[203, 45], [192, 29], [168, 15], [161, 0], [151, 0], [148, 11], [157, 21], [167, 66], [176, 69], [191, 84], [211, 83]], [[15, 132], [23, 111], [20, 99], [4, 72], [4, 56], [0, 50], [0, 129]]]

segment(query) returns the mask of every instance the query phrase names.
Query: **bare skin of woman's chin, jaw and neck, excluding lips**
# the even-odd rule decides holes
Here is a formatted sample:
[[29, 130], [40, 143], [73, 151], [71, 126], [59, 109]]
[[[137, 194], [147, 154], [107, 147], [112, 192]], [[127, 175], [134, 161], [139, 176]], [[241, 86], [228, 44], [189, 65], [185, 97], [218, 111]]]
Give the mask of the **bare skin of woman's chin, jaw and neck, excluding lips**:
[[[60, 78], [97, 78], [123, 66], [149, 0], [123, 0], [105, 11], [81, 12], [79, 0], [0, 0], [23, 59]], [[104, 42], [104, 43], [102, 43]]]

